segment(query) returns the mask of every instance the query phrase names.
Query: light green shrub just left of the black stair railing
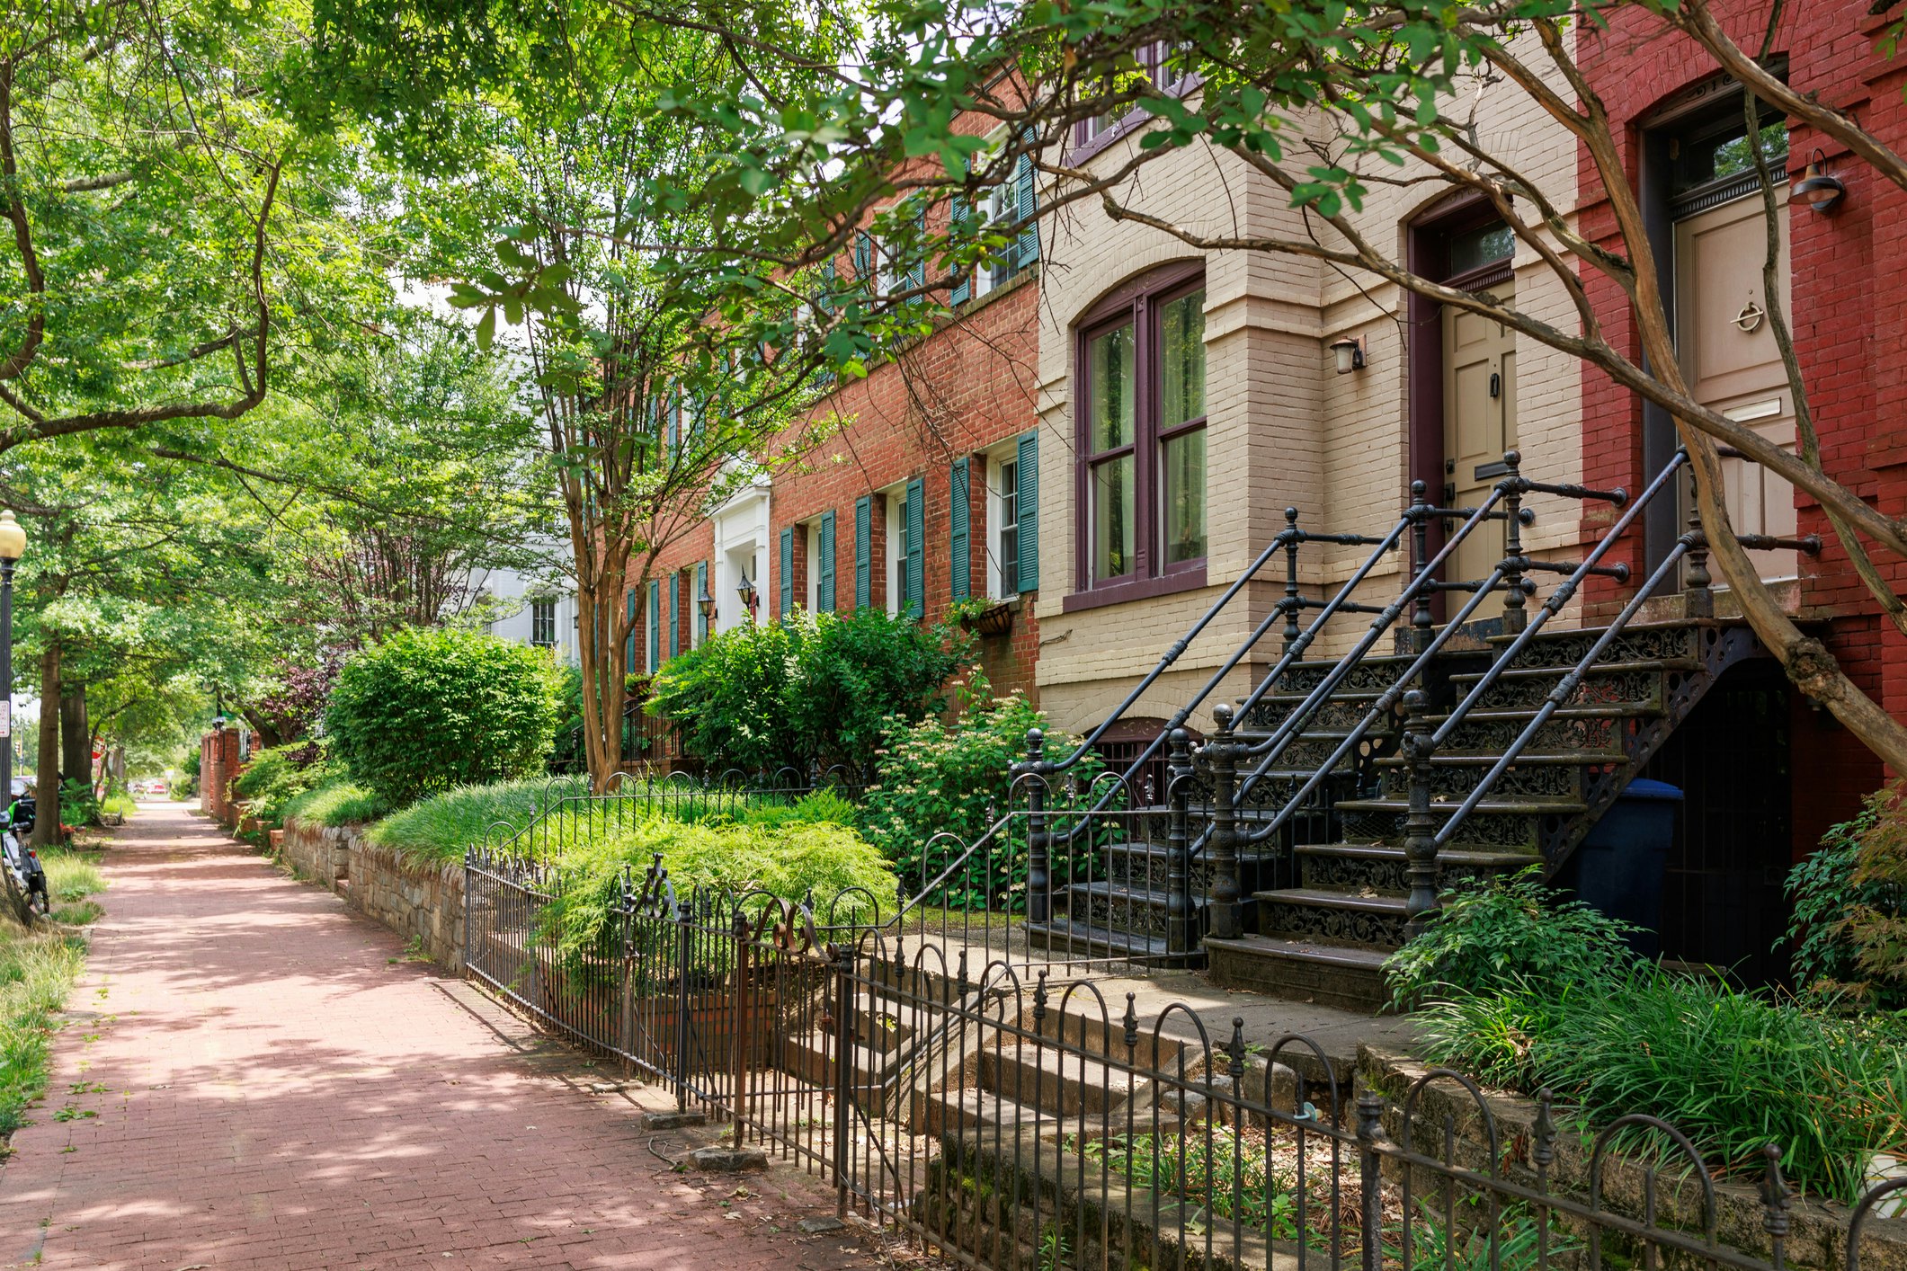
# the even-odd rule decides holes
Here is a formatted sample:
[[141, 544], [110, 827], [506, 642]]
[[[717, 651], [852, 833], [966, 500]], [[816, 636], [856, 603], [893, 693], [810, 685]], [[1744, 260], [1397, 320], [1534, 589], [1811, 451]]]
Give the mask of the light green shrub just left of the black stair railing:
[[[1026, 732], [1047, 728], [1047, 716], [1018, 694], [969, 707], [955, 722], [929, 716], [919, 722], [891, 720], [879, 751], [879, 781], [868, 789], [860, 825], [862, 831], [894, 861], [910, 888], [929, 882], [927, 873], [940, 873], [952, 863], [957, 848], [942, 840], [933, 852], [934, 835], [952, 833], [969, 844], [986, 833], [992, 810], [1003, 816], [1024, 795], [1013, 791], [1011, 768], [1026, 758]], [[1066, 755], [1077, 741], [1051, 734], [1049, 755]], [[1104, 772], [1095, 755], [1087, 755], [1074, 770], [1081, 785], [1091, 789], [1093, 777]], [[1053, 806], [1064, 804], [1055, 791]], [[1114, 802], [1112, 808], [1121, 804]], [[1064, 819], [1064, 817], [1060, 817]], [[1055, 825], [1064, 829], [1064, 825]], [[944, 894], [931, 898], [948, 909], [999, 907], [1020, 901], [1026, 880], [1026, 835], [1015, 823], [1003, 842], [990, 844], [984, 863], [961, 871]], [[1055, 880], [1072, 878], [1087, 869], [1091, 850], [1056, 848]]]

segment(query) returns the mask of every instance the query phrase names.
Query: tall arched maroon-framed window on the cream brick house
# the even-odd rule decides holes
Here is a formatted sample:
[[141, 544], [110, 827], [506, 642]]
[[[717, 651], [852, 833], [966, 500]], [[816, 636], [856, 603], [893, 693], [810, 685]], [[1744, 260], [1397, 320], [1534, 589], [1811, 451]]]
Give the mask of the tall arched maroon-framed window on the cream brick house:
[[1175, 267], [1079, 330], [1081, 585], [1205, 562], [1205, 278]]

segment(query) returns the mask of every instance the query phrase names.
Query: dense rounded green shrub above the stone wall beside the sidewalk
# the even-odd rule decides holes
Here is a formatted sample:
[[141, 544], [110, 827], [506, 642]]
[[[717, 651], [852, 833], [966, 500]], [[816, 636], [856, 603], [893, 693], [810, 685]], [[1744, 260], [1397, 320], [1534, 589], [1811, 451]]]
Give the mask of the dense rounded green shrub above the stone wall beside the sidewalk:
[[353, 779], [402, 808], [452, 785], [542, 772], [559, 688], [542, 650], [410, 627], [343, 665], [324, 724]]

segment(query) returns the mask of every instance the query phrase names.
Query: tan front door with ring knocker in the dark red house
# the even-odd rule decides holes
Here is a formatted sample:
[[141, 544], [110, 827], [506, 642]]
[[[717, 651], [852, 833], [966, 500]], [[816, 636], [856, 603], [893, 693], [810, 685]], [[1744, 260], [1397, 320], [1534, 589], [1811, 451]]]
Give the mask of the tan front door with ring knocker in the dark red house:
[[[1781, 311], [1787, 307], [1787, 187], [1775, 191], [1781, 236]], [[1674, 227], [1676, 354], [1693, 396], [1768, 440], [1794, 450], [1794, 394], [1768, 322], [1762, 196], [1695, 213]], [[1722, 459], [1728, 520], [1737, 534], [1794, 537], [1794, 486], [1747, 459]], [[1684, 484], [1684, 516], [1688, 488]], [[1794, 577], [1791, 551], [1756, 553], [1762, 577]]]

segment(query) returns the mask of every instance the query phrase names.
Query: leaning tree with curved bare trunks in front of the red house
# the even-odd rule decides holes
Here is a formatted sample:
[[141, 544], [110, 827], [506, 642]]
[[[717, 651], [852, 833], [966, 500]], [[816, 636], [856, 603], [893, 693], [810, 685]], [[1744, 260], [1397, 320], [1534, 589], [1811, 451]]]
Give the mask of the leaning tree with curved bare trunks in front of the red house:
[[[793, 10], [801, 10], [795, 4]], [[1892, 6], [1875, 6], [1886, 13]], [[1590, 74], [1577, 61], [1577, 36], [1621, 15], [1663, 32], [1682, 32], [1737, 80], [1751, 118], [1762, 107], [1848, 147], [1876, 177], [1907, 189], [1907, 156], [1848, 111], [1789, 88], [1768, 69], [1783, 0], [1764, 27], [1724, 23], [1711, 0], [1295, 0], [1238, 6], [1228, 0], [1034, 0], [954, 4], [871, 0], [858, 38], [826, 65], [782, 46], [772, 32], [788, 0], [732, 4], [624, 4], [631, 25], [717, 30], [746, 63], [807, 65], [805, 90], [789, 99], [732, 86], [685, 84], [664, 103], [704, 130], [728, 135], [727, 173], [704, 183], [707, 215], [770, 223], [759, 242], [789, 265], [812, 265], [839, 250], [870, 212], [896, 200], [961, 200], [974, 206], [1026, 154], [1039, 170], [1037, 212], [1015, 223], [952, 215], [910, 248], [959, 271], [1005, 250], [1030, 215], [1097, 208], [1118, 221], [1150, 225], [1200, 250], [1253, 252], [1322, 261], [1367, 284], [1394, 286], [1455, 311], [1486, 314], [1522, 335], [1598, 368], [1617, 385], [1663, 408], [1688, 448], [1701, 528], [1724, 581], [1789, 678], [1823, 703], [1894, 770], [1907, 770], [1907, 724], [1894, 720], [1829, 650], [1781, 610], [1730, 524], [1722, 501], [1722, 448], [1739, 452], [1825, 509], [1833, 534], [1894, 627], [1907, 633], [1907, 606], [1886, 568], [1907, 558], [1907, 522], [1861, 499], [1827, 473], [1808, 410], [1781, 290], [1774, 286], [1775, 234], [1770, 219], [1764, 292], [1798, 415], [1798, 446], [1783, 450], [1751, 427], [1697, 402], [1674, 356], [1674, 328], [1661, 288], [1640, 200], [1623, 166], [1619, 130]], [[1621, 13], [1619, 13], [1621, 11]], [[1850, 10], [1848, 21], [1857, 11]], [[1907, 19], [1880, 30], [1892, 57]], [[1632, 29], [1625, 27], [1630, 34]], [[1175, 74], [1158, 74], [1171, 67]], [[1573, 189], [1548, 191], [1472, 118], [1476, 90], [1514, 93], [1526, 118], [1543, 118], [1579, 143], [1610, 196], [1615, 232], [1590, 238], [1573, 221]], [[1501, 103], [1499, 103], [1501, 105]], [[1066, 137], [1083, 120], [1144, 111], [1138, 143], [1104, 168], [1068, 166]], [[1007, 143], [988, 149], [963, 112], [1007, 126]], [[1512, 111], [1518, 112], [1518, 111]], [[1751, 128], [1749, 137], [1756, 131]], [[1179, 151], [1232, 156], [1282, 189], [1301, 212], [1291, 234], [1215, 231], [1169, 212], [1161, 183], [1144, 170]], [[934, 164], [902, 168], [908, 158]], [[1768, 156], [1756, 152], [1764, 200], [1774, 210]], [[1573, 166], [1571, 166], [1573, 171]], [[1426, 198], [1440, 187], [1487, 202], [1520, 250], [1547, 267], [1569, 303], [1569, 318], [1482, 292], [1451, 288], [1411, 269], [1390, 236], [1373, 236], [1356, 213], [1365, 196], [1402, 185]], [[891, 213], [892, 215], [892, 213]], [[1611, 290], [1625, 311], [1598, 293]], [[927, 288], [927, 297], [944, 295]], [[1625, 320], [1623, 320], [1625, 318]], [[879, 347], [881, 313], [835, 314], [830, 339]], [[1627, 326], [1632, 335], [1619, 333]]]

